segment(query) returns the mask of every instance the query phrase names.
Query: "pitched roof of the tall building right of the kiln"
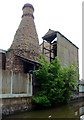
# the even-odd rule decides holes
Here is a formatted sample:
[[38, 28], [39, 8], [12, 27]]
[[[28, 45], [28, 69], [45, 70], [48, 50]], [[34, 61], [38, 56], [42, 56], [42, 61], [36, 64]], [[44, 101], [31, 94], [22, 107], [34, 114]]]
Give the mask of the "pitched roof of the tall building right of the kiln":
[[[69, 41], [71, 44], [73, 44], [70, 40], [68, 40], [64, 35], [62, 35], [59, 31], [54, 31], [49, 29], [48, 32], [42, 37], [43, 40], [46, 40], [47, 42], [52, 42], [56, 37], [57, 33], [59, 33], [62, 37], [64, 37], [67, 41]], [[73, 44], [77, 49], [79, 49], [75, 44]]]

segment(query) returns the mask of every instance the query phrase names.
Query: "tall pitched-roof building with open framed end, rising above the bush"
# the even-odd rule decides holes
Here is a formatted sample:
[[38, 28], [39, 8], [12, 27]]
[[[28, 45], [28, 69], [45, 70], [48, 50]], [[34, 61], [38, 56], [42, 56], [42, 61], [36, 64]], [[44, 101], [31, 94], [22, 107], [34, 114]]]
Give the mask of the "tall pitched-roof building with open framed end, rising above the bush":
[[44, 54], [48, 61], [57, 56], [62, 66], [72, 62], [75, 65], [79, 64], [78, 47], [60, 32], [49, 29], [42, 38], [43, 43], [40, 45], [41, 53]]

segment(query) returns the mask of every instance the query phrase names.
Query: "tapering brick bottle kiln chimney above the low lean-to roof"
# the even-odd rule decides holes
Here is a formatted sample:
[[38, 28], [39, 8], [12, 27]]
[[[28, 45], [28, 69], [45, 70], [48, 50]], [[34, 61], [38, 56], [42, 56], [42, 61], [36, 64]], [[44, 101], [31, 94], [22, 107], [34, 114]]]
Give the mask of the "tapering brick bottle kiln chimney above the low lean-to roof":
[[22, 20], [10, 49], [14, 50], [15, 54], [34, 60], [35, 56], [39, 57], [39, 40], [33, 16], [34, 8], [31, 4], [25, 4], [22, 10]]

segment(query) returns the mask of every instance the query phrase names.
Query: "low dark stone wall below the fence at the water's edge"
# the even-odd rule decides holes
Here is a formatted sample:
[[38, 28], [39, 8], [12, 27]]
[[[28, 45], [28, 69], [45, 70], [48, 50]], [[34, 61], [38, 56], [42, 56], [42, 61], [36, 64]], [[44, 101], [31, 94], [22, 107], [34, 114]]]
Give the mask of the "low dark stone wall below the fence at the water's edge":
[[2, 114], [9, 115], [32, 108], [31, 97], [3, 98]]

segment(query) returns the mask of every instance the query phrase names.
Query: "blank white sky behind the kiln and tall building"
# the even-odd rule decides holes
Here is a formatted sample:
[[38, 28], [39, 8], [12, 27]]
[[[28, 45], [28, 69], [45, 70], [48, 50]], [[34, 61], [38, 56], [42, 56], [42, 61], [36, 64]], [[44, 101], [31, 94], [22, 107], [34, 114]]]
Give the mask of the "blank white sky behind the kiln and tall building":
[[39, 37], [50, 29], [61, 32], [79, 47], [79, 72], [82, 78], [82, 1], [83, 0], [1, 0], [0, 49], [7, 50], [20, 24], [25, 3], [34, 6], [34, 21]]

